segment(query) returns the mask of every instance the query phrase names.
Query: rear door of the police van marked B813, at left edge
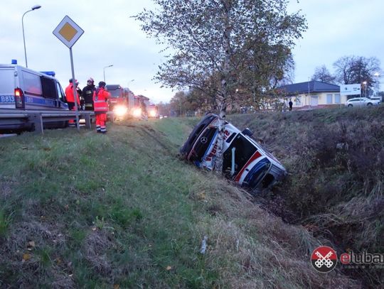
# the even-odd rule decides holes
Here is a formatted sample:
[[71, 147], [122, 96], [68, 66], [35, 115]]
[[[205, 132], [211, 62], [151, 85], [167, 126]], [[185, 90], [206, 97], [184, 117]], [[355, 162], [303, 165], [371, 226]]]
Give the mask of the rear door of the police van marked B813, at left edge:
[[0, 67], [0, 109], [15, 109], [15, 69]]

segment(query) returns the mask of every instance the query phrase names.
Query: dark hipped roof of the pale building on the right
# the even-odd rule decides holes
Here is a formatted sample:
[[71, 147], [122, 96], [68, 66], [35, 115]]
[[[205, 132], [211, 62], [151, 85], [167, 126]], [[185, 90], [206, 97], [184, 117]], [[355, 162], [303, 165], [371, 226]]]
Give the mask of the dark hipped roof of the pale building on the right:
[[286, 92], [287, 94], [340, 92], [340, 87], [338, 85], [329, 84], [326, 82], [319, 82], [317, 80], [283, 85], [282, 87], [279, 87], [279, 89], [281, 89], [282, 92]]

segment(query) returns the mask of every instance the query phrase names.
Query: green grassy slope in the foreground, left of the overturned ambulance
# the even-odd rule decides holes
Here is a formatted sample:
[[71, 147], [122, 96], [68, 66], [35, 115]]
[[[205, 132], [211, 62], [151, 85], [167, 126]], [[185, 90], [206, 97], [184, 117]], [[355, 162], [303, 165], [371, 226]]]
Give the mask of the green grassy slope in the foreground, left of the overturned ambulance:
[[176, 158], [194, 121], [0, 139], [0, 287], [359, 288], [311, 268], [306, 229]]

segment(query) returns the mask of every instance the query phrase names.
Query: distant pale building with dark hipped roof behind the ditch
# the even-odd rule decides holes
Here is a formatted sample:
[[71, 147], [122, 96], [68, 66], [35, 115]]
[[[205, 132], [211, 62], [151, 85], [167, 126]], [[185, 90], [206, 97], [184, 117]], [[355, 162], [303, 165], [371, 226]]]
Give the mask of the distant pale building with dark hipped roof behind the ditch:
[[288, 84], [278, 88], [286, 94], [284, 102], [292, 100], [294, 109], [334, 107], [345, 104], [346, 95], [340, 95], [340, 87], [335, 84], [312, 80]]

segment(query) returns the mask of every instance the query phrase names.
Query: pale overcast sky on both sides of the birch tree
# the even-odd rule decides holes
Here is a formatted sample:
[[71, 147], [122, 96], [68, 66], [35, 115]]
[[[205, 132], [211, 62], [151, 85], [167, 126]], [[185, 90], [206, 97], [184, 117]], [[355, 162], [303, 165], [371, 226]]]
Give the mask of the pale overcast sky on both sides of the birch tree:
[[[71, 77], [70, 53], [53, 30], [69, 16], [85, 33], [73, 45], [75, 77], [80, 87], [88, 77], [95, 82], [129, 87], [153, 102], [168, 102], [175, 92], [161, 89], [152, 78], [164, 58], [161, 47], [146, 38], [139, 23], [129, 16], [151, 0], [1, 0], [0, 63], [12, 59], [25, 65], [21, 18], [39, 4], [41, 9], [26, 13], [24, 32], [28, 67], [54, 70], [63, 87]], [[384, 65], [384, 0], [291, 0], [289, 11], [302, 10], [308, 30], [294, 48], [295, 82], [308, 81], [317, 66], [332, 64], [342, 56], [376, 57]], [[113, 65], [113, 67], [104, 67]], [[134, 80], [134, 81], [132, 81]], [[383, 78], [381, 89], [383, 89]]]

